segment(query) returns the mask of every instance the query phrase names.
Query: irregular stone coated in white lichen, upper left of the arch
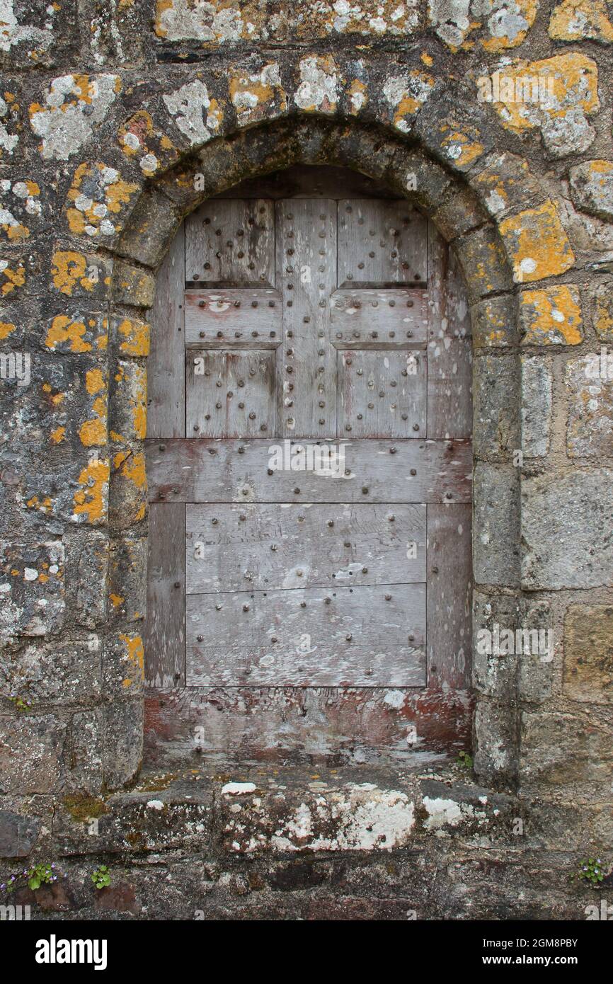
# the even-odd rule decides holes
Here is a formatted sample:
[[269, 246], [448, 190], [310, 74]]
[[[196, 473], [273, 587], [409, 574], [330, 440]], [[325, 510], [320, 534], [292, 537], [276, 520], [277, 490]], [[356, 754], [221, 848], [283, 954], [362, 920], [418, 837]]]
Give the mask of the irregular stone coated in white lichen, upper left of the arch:
[[42, 137], [45, 159], [68, 160], [92, 137], [121, 89], [117, 75], [63, 75], [53, 79], [41, 105], [30, 107], [31, 128]]

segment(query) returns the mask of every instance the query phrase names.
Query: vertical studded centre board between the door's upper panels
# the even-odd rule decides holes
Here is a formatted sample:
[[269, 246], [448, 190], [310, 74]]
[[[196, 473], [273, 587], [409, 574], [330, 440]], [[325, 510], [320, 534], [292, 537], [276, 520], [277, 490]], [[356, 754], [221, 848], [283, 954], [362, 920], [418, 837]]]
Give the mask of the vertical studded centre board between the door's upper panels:
[[276, 203], [276, 278], [283, 302], [277, 361], [279, 433], [336, 437], [337, 353], [330, 344], [330, 295], [337, 286], [337, 205]]

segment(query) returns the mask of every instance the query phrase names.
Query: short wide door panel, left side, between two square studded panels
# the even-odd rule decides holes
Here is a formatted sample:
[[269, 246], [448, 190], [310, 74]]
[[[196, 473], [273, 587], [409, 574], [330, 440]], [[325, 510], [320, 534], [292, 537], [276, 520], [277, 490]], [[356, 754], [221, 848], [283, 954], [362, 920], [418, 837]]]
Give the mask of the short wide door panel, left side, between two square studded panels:
[[280, 296], [267, 288], [186, 290], [185, 341], [197, 348], [276, 348]]

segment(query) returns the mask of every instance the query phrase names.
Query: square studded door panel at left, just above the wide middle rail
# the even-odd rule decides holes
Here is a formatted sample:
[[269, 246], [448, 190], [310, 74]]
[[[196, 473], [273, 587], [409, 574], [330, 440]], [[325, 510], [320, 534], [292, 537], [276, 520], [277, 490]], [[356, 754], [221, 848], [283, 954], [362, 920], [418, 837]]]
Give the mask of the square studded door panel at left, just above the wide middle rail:
[[188, 437], [275, 435], [275, 352], [186, 353]]

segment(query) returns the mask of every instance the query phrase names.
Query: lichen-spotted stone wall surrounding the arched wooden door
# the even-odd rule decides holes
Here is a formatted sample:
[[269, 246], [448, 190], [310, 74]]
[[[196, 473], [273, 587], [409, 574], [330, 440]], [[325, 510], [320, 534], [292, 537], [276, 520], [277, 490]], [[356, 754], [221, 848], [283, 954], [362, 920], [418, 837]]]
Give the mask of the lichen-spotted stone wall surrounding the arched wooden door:
[[[140, 768], [148, 310], [172, 234], [246, 176], [336, 163], [432, 215], [464, 271], [475, 631], [543, 629], [553, 646], [546, 658], [475, 646], [475, 769], [489, 790], [479, 795], [498, 789], [512, 806], [501, 841], [471, 829], [461, 849], [502, 851], [505, 864], [523, 851], [526, 880], [529, 851], [550, 852], [543, 897], [561, 893], [550, 912], [568, 914], [578, 860], [613, 860], [613, 10], [604, 0], [297, 6], [6, 4], [0, 855], [74, 854], [77, 869], [92, 844], [106, 856], [108, 844], [86, 848], [77, 835], [90, 815], [67, 820], [66, 804], [93, 798], [115, 816], [113, 790]], [[307, 780], [288, 774], [296, 829]], [[356, 781], [346, 777], [343, 802]], [[407, 781], [370, 785], [419, 812], [427, 794]], [[216, 844], [224, 813], [213, 816]], [[138, 857], [181, 844], [187, 822], [177, 823], [160, 841], [143, 820]], [[453, 837], [443, 858], [423, 811], [409, 827], [378, 849], [406, 851], [418, 834], [427, 864], [453, 868]], [[335, 840], [305, 837], [300, 849], [317, 856]], [[357, 848], [345, 838], [337, 849]], [[518, 886], [505, 881], [511, 905]]]

